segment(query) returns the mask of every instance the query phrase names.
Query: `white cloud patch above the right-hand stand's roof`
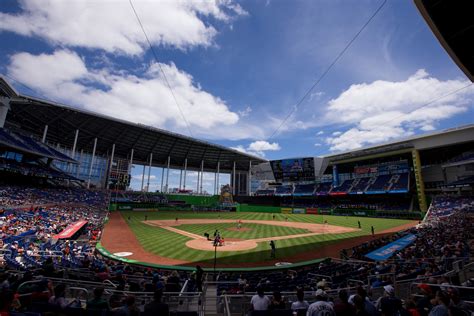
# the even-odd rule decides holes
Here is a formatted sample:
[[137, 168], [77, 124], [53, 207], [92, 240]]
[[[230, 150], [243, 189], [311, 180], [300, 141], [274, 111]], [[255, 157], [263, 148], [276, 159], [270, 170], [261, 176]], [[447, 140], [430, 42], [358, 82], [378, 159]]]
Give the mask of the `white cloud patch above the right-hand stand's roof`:
[[325, 117], [328, 124], [351, 127], [334, 132], [326, 143], [332, 151], [351, 150], [433, 130], [440, 120], [467, 111], [472, 87], [441, 98], [467, 84], [441, 81], [420, 69], [405, 81], [351, 85], [329, 101]]

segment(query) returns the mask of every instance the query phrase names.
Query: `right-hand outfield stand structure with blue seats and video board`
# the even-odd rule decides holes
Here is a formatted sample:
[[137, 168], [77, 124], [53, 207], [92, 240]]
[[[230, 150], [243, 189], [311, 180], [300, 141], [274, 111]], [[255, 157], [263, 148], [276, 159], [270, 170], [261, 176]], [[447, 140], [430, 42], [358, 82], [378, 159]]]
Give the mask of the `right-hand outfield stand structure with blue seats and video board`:
[[252, 169], [252, 188], [288, 206], [426, 212], [427, 195], [472, 193], [473, 148], [474, 125], [462, 126], [324, 157], [264, 162]]

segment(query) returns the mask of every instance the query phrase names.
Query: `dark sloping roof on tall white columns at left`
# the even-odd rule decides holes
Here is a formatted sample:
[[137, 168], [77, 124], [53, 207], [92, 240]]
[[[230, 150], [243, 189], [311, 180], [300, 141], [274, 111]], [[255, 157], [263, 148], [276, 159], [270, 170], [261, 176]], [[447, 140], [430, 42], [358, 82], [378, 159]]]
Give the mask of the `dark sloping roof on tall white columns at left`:
[[266, 161], [155, 127], [21, 95], [3, 77], [0, 77], [0, 95], [10, 98], [5, 127], [41, 138], [45, 125], [48, 125], [47, 142], [69, 148], [73, 146], [75, 131], [79, 130], [79, 151], [83, 149], [91, 153], [97, 137], [97, 154], [110, 154], [115, 144], [116, 157], [129, 157], [133, 148], [135, 163], [148, 164], [149, 155], [153, 153], [154, 166], [166, 166], [168, 156], [172, 167], [182, 167], [187, 158], [188, 169], [200, 169], [204, 160], [204, 170], [208, 171], [215, 171], [218, 161], [222, 171], [232, 170], [234, 161], [237, 170], [245, 171], [249, 169], [250, 161]]

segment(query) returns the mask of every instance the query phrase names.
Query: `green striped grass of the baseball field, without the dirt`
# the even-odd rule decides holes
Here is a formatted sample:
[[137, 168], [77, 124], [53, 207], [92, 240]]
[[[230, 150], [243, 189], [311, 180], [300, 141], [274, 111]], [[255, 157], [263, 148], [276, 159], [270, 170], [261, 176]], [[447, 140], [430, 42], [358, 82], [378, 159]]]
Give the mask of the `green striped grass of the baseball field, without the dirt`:
[[[126, 219], [130, 216], [130, 221], [127, 220], [128, 225], [137, 236], [138, 241], [142, 247], [153, 254], [187, 260], [190, 262], [209, 262], [214, 259], [213, 251], [201, 251], [188, 248], [185, 243], [190, 240], [189, 237], [162, 229], [159, 227], [150, 226], [142, 223], [145, 215], [148, 220], [163, 220], [175, 219], [177, 216], [180, 219], [242, 219], [242, 220], [272, 220], [273, 214], [268, 213], [193, 213], [193, 212], [122, 212], [122, 216]], [[314, 252], [314, 258], [325, 257], [324, 253], [318, 253], [318, 249], [323, 245], [334, 244], [343, 239], [353, 238], [363, 235], [370, 235], [370, 228], [373, 225], [375, 232], [380, 232], [385, 229], [400, 226], [408, 223], [407, 220], [399, 219], [379, 219], [367, 217], [345, 217], [345, 216], [328, 216], [328, 215], [306, 215], [306, 214], [275, 214], [275, 220], [284, 221], [288, 217], [290, 222], [307, 222], [322, 224], [327, 220], [330, 225], [345, 226], [357, 228], [357, 221], [360, 220], [362, 224], [362, 231], [355, 231], [344, 234], [322, 234], [309, 237], [292, 238], [287, 240], [278, 240], [277, 257], [284, 258], [297, 255], [304, 252]], [[248, 226], [247, 226], [248, 225]], [[190, 224], [180, 225], [176, 227], [181, 230], [186, 230], [198, 235], [204, 232], [212, 234], [215, 229], [223, 232], [226, 238], [240, 238], [253, 239], [262, 237], [284, 236], [292, 234], [306, 233], [305, 229], [278, 227], [261, 224], [245, 224], [244, 227], [252, 226], [252, 230], [246, 232], [231, 232], [226, 228], [236, 227], [235, 224]], [[251, 250], [239, 252], [219, 252], [218, 262], [220, 264], [234, 264], [238, 266], [239, 263], [255, 263], [270, 261], [270, 249], [266, 242], [259, 243], [258, 246]]]

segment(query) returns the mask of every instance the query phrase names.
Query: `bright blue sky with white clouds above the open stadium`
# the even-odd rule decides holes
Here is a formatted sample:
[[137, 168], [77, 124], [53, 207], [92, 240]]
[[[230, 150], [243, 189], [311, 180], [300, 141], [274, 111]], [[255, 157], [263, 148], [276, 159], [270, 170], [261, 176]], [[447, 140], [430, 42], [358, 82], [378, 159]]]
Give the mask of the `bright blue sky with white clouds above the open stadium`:
[[382, 2], [133, 0], [189, 129], [126, 0], [2, 1], [0, 73], [25, 94], [268, 159], [472, 123], [472, 86], [422, 107], [469, 82], [412, 1], [388, 0], [269, 138]]

